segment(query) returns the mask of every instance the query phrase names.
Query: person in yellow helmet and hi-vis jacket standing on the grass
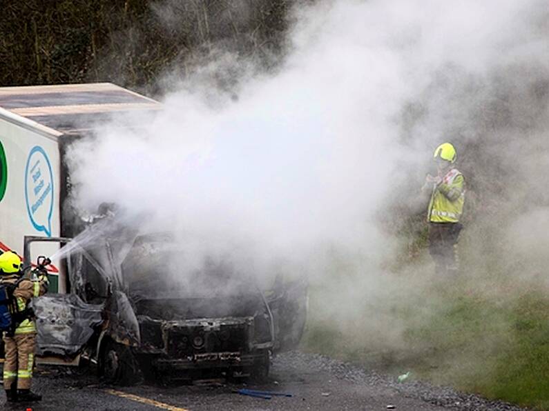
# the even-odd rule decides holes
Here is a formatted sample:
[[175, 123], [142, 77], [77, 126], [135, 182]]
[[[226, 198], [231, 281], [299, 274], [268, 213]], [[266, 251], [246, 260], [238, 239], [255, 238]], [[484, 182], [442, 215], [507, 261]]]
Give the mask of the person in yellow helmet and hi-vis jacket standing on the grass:
[[427, 212], [429, 223], [429, 252], [436, 272], [457, 274], [459, 259], [457, 242], [463, 225], [459, 219], [465, 203], [465, 179], [454, 167], [456, 149], [443, 143], [434, 150], [437, 175], [427, 174], [424, 190], [431, 190]]

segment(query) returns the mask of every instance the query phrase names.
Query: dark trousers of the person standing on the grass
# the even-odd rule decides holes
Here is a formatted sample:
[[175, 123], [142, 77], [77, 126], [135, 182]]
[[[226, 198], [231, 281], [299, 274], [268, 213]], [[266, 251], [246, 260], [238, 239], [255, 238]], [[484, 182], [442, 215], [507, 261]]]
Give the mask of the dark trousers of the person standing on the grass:
[[462, 228], [460, 223], [429, 223], [429, 253], [434, 260], [436, 272], [457, 274], [457, 243]]

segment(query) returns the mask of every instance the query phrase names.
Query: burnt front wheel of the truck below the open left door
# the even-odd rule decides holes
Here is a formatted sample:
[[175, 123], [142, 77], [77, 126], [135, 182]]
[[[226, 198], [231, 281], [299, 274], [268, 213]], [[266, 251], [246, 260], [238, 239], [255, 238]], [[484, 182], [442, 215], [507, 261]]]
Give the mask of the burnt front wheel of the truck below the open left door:
[[102, 352], [99, 372], [106, 383], [133, 385], [141, 380], [139, 364], [126, 345], [108, 341]]

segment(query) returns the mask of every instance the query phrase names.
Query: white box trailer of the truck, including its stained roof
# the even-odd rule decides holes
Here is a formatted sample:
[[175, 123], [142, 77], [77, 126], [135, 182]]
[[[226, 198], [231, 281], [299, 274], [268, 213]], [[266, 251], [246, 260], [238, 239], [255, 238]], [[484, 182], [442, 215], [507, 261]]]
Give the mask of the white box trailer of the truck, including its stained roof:
[[[62, 212], [70, 185], [67, 144], [115, 113], [161, 107], [112, 83], [0, 88], [0, 250], [22, 257], [24, 236], [70, 237]], [[36, 243], [32, 254], [49, 256], [57, 248]], [[48, 267], [50, 291], [67, 292], [58, 265]]]

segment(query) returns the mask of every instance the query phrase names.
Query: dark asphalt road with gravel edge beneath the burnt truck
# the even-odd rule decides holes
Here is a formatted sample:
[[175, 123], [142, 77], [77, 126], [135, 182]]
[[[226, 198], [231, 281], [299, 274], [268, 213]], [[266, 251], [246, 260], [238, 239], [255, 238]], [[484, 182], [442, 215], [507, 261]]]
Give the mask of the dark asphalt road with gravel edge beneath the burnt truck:
[[[34, 404], [6, 403], [4, 410], [520, 410], [450, 388], [419, 381], [398, 383], [315, 354], [289, 352], [273, 360], [269, 382], [246, 385], [210, 381], [206, 385], [113, 387], [99, 383], [89, 368], [39, 365], [33, 390], [44, 399]], [[253, 398], [235, 393], [247, 388], [291, 394]]]

